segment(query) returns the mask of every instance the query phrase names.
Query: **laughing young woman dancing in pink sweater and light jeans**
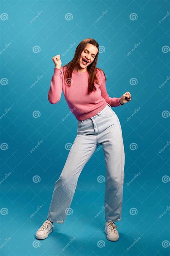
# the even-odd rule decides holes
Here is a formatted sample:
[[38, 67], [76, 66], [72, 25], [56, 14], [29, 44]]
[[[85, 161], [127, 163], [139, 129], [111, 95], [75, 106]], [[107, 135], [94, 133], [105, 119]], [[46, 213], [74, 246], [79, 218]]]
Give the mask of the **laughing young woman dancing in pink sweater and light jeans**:
[[80, 42], [74, 58], [65, 66], [61, 67], [60, 54], [52, 58], [55, 68], [48, 100], [56, 104], [63, 91], [77, 119], [77, 135], [60, 178], [55, 182], [47, 220], [37, 230], [37, 239], [48, 237], [53, 231], [53, 222], [64, 223], [79, 175], [99, 145], [103, 145], [106, 163], [104, 231], [110, 241], [119, 238], [114, 222], [121, 220], [125, 160], [121, 125], [111, 107], [127, 103], [131, 94], [109, 97], [105, 73], [96, 68], [98, 55], [98, 42], [88, 38]]

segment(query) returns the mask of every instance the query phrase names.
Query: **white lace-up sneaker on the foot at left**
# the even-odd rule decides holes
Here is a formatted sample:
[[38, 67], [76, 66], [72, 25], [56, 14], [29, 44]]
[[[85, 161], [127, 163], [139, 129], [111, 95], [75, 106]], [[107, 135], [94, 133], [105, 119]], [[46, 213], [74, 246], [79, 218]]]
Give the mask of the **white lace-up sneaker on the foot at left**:
[[48, 237], [48, 234], [53, 231], [54, 225], [49, 221], [46, 220], [42, 224], [41, 228], [39, 228], [36, 232], [37, 239], [45, 239]]

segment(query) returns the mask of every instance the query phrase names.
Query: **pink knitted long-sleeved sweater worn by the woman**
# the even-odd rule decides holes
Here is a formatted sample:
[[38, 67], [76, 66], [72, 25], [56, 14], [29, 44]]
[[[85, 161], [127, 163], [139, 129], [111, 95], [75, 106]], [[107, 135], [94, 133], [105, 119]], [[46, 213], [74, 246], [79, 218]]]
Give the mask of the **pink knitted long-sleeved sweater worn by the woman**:
[[56, 104], [61, 93], [65, 96], [66, 102], [77, 120], [85, 120], [95, 116], [107, 103], [111, 107], [117, 107], [119, 98], [110, 98], [105, 85], [104, 73], [97, 71], [99, 85], [95, 84], [96, 91], [88, 94], [88, 71], [72, 73], [72, 85], [68, 86], [64, 81], [63, 67], [54, 68], [51, 79], [51, 86], [48, 91], [48, 100], [51, 104]]

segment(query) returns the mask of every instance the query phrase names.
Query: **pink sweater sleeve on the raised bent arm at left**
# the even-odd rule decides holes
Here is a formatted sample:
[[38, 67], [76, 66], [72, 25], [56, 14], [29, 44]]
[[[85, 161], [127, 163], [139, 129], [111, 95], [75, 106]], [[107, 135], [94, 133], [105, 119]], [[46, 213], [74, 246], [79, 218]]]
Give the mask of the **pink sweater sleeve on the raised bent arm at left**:
[[48, 91], [48, 100], [51, 104], [59, 102], [62, 93], [62, 74], [60, 68], [54, 68], [51, 86]]

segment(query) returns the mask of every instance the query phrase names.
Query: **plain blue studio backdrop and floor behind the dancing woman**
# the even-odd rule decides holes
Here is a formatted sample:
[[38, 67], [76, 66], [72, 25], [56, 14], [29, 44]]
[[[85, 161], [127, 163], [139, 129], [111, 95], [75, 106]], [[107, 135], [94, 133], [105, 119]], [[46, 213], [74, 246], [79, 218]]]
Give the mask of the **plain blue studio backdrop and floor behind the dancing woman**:
[[[2, 1], [1, 255], [170, 254], [170, 16], [161, 21], [167, 12], [169, 1], [156, 0]], [[107, 75], [109, 96], [126, 91], [132, 96], [131, 102], [112, 108], [126, 153], [122, 221], [116, 223], [120, 237], [110, 242], [104, 233], [100, 148], [81, 172], [71, 215], [38, 241], [35, 233], [46, 220], [67, 146], [77, 133], [63, 93], [55, 105], [47, 99], [52, 57], [60, 54], [65, 65], [88, 37], [102, 49], [97, 67]]]

